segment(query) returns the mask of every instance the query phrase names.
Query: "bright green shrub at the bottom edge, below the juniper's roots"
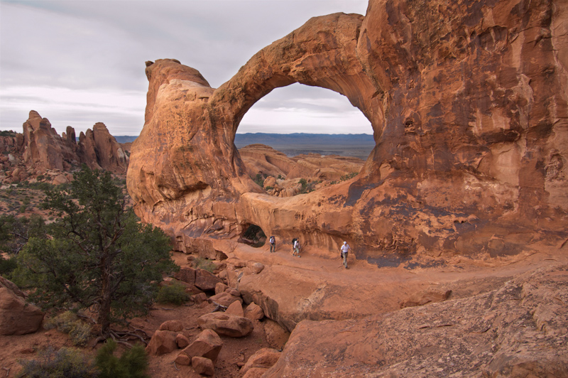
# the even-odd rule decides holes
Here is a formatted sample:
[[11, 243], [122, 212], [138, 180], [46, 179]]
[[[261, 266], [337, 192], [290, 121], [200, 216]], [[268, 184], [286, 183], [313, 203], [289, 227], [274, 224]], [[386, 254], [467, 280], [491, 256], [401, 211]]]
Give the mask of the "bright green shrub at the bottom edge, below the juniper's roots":
[[95, 364], [100, 371], [99, 378], [151, 378], [146, 374], [148, 357], [142, 345], [134, 345], [120, 358], [114, 355], [114, 350], [116, 342], [108, 339], [97, 352]]

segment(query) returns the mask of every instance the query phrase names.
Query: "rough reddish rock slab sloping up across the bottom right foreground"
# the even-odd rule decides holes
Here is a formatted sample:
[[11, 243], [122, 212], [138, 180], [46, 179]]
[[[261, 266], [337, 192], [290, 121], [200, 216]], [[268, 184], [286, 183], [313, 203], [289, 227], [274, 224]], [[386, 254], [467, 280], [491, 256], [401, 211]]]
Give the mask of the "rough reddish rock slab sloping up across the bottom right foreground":
[[359, 321], [304, 320], [263, 377], [567, 377], [567, 269]]

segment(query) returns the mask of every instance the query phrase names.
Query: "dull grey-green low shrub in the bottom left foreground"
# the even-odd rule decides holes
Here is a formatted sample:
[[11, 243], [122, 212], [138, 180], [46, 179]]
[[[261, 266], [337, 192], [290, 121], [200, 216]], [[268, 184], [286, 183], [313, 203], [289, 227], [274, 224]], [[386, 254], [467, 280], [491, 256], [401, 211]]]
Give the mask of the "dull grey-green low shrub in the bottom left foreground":
[[83, 352], [74, 349], [53, 348], [38, 353], [38, 360], [19, 361], [23, 369], [16, 377], [26, 378], [95, 378], [97, 368]]

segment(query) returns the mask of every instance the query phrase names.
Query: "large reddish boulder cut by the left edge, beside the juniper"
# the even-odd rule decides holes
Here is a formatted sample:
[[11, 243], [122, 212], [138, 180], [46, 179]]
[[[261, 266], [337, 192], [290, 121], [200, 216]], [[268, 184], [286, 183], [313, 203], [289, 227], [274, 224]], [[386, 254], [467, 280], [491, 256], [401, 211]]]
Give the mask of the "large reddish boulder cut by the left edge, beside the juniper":
[[26, 335], [41, 327], [43, 312], [13, 282], [0, 276], [0, 335]]

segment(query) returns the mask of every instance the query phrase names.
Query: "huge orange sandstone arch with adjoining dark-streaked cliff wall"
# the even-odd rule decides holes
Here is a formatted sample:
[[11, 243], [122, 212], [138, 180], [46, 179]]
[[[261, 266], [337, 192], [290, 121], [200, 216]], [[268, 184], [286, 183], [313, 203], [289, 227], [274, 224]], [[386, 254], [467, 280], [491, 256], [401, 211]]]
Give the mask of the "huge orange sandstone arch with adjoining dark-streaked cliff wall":
[[[175, 60], [148, 63], [146, 124], [127, 183], [143, 220], [190, 237], [250, 224], [359, 259], [514, 254], [567, 237], [568, 37], [564, 1], [371, 0], [365, 17], [312, 18], [219, 89]], [[345, 95], [376, 147], [359, 175], [267, 198], [234, 135], [271, 90]]]

